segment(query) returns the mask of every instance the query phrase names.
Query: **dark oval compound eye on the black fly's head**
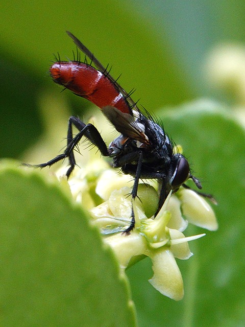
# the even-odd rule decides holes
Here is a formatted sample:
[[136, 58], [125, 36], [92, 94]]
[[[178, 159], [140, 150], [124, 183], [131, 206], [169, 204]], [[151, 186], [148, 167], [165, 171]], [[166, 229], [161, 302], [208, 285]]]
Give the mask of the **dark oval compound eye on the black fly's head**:
[[177, 160], [177, 167], [173, 177], [171, 178], [171, 185], [173, 190], [178, 189], [189, 178], [189, 173], [190, 168], [187, 159], [179, 155]]

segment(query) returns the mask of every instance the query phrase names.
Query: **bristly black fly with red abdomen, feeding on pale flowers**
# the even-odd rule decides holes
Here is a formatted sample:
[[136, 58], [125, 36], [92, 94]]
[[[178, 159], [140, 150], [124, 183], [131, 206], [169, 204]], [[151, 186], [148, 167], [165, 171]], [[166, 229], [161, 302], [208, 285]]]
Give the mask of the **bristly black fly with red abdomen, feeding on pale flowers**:
[[[201, 189], [201, 182], [191, 174], [187, 159], [180, 153], [174, 153], [173, 143], [164, 129], [154, 122], [150, 114], [138, 109], [130, 94], [118, 84], [107, 67], [105, 68], [83, 43], [70, 32], [67, 34], [91, 63], [93, 62], [93, 66], [86, 61], [59, 60], [50, 68], [54, 82], [100, 107], [120, 135], [107, 147], [100, 132], [92, 124], [85, 124], [79, 118], [71, 116], [64, 152], [44, 164], [35, 166], [40, 168], [52, 166], [57, 161], [68, 158], [69, 168], [66, 175], [69, 177], [76, 166], [74, 149], [85, 136], [103, 156], [113, 158], [114, 168], [120, 168], [124, 174], [134, 177], [132, 201], [137, 196], [139, 179], [157, 179], [159, 204], [156, 214], [171, 190], [175, 192], [181, 185], [188, 188], [185, 185], [187, 179], [191, 178], [198, 189]], [[72, 126], [79, 130], [75, 136], [72, 133]], [[132, 206], [131, 223], [125, 232], [130, 233], [134, 226]]]

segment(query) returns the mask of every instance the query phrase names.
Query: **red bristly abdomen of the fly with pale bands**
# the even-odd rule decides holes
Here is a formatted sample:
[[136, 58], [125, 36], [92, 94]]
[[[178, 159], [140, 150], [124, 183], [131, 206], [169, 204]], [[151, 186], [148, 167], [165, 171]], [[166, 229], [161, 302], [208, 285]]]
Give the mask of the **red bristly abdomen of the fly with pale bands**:
[[50, 67], [50, 73], [56, 83], [96, 106], [113, 106], [121, 112], [131, 114], [129, 104], [114, 83], [94, 67], [77, 61], [60, 61]]

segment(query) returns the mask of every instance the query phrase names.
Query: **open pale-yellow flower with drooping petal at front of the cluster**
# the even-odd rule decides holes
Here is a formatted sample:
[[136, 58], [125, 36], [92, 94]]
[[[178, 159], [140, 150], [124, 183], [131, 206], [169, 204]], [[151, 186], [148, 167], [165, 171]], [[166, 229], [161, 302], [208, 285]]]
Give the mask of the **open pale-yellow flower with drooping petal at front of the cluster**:
[[[144, 185], [144, 187], [149, 186]], [[149, 282], [160, 293], [180, 300], [184, 295], [183, 280], [175, 258], [188, 259], [192, 253], [187, 242], [205, 234], [185, 238], [178, 230], [178, 228], [183, 230], [183, 226], [187, 226], [187, 223], [180, 223], [183, 220], [179, 217], [181, 201], [176, 201], [176, 196], [171, 194], [155, 219], [145, 216], [141, 202], [136, 199], [133, 205], [135, 229], [127, 237], [122, 233], [115, 233], [125, 230], [130, 224], [131, 200], [128, 197], [130, 191], [128, 187], [115, 190], [108, 201], [91, 209], [93, 223], [99, 226], [103, 233], [108, 234], [104, 241], [113, 249], [122, 269], [132, 265], [139, 258], [149, 256], [154, 271]], [[171, 198], [174, 199], [177, 207], [173, 205]], [[177, 219], [173, 217], [175, 213], [178, 213]], [[175, 224], [177, 228], [168, 227], [168, 225], [175, 227]]]

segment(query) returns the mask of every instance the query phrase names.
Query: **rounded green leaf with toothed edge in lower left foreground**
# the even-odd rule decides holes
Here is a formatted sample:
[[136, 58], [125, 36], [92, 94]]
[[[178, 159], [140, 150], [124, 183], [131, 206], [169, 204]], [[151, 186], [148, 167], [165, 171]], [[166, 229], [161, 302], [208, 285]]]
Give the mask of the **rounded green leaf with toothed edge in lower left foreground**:
[[0, 207], [1, 325], [136, 325], [125, 275], [58, 182], [3, 162]]

